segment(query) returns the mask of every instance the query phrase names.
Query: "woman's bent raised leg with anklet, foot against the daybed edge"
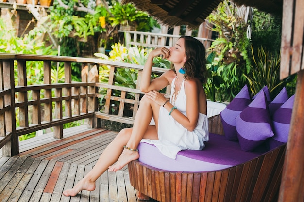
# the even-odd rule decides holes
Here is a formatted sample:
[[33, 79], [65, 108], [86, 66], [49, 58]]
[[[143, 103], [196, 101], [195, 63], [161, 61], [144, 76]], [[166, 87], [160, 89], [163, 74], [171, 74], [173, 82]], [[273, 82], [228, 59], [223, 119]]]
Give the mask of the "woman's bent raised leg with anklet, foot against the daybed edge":
[[[131, 149], [136, 149], [140, 140], [143, 138], [158, 140], [157, 125], [160, 106], [151, 99], [144, 96], [140, 101], [140, 107], [137, 111], [133, 130], [126, 146]], [[151, 118], [155, 121], [155, 133], [147, 133], [147, 128], [151, 122]], [[109, 171], [118, 171], [123, 168], [129, 162], [139, 158], [138, 152], [124, 149], [118, 158], [118, 161], [109, 166]]]

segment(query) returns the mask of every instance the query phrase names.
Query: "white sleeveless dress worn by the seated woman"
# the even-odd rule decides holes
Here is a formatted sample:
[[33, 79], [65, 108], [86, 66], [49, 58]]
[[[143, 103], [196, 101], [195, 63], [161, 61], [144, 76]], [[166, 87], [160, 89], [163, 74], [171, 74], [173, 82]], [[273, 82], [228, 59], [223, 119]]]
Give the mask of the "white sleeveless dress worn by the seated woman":
[[[175, 84], [176, 78], [172, 84]], [[174, 94], [174, 85], [171, 86], [170, 103]], [[181, 85], [180, 92], [175, 100], [177, 109], [186, 115], [186, 94], [184, 88], [184, 80]], [[199, 113], [198, 123], [195, 129], [190, 132], [184, 126], [179, 124], [169, 115], [167, 109], [160, 107], [158, 120], [158, 139], [150, 140], [142, 139], [141, 142], [154, 144], [164, 155], [169, 158], [176, 158], [176, 154], [181, 150], [202, 150], [204, 141], [209, 140], [208, 133], [208, 117], [205, 114]]]

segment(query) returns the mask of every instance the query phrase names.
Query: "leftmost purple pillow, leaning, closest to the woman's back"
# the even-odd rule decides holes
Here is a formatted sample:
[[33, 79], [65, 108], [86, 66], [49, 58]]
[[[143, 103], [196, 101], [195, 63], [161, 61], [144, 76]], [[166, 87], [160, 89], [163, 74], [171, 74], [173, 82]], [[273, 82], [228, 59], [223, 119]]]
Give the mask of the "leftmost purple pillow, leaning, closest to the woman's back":
[[236, 116], [251, 102], [248, 87], [245, 85], [235, 98], [220, 112], [221, 122], [227, 140], [237, 140]]

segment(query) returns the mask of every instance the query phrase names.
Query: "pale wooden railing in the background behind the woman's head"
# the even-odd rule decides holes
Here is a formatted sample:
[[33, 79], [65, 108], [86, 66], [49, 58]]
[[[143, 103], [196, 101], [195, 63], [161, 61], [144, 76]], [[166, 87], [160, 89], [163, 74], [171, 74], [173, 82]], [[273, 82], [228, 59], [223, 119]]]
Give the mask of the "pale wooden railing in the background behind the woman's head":
[[[172, 35], [172, 34], [163, 34], [163, 33], [151, 33], [151, 32], [142, 32], [142, 31], [125, 31], [119, 30], [119, 32], [124, 32], [125, 36], [125, 44], [126, 47], [130, 46], [139, 46], [139, 47], [164, 47], [174, 46], [175, 42], [178, 40], [180, 35]], [[205, 48], [209, 48], [212, 39], [207, 38], [199, 38], [195, 37], [196, 39], [200, 40]]]

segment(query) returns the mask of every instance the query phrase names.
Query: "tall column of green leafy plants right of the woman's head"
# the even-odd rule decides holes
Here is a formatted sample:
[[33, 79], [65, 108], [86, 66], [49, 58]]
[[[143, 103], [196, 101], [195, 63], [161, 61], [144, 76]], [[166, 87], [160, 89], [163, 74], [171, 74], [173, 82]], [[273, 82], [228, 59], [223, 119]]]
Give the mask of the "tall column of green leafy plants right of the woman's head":
[[213, 26], [210, 29], [218, 33], [210, 50], [216, 52], [221, 64], [217, 69], [224, 80], [220, 84], [225, 89], [221, 100], [228, 102], [245, 85], [247, 80], [244, 75], [249, 72], [251, 64], [247, 53], [250, 47], [250, 40], [246, 37], [247, 24], [238, 15], [238, 9], [234, 3], [224, 0], [207, 18]]

